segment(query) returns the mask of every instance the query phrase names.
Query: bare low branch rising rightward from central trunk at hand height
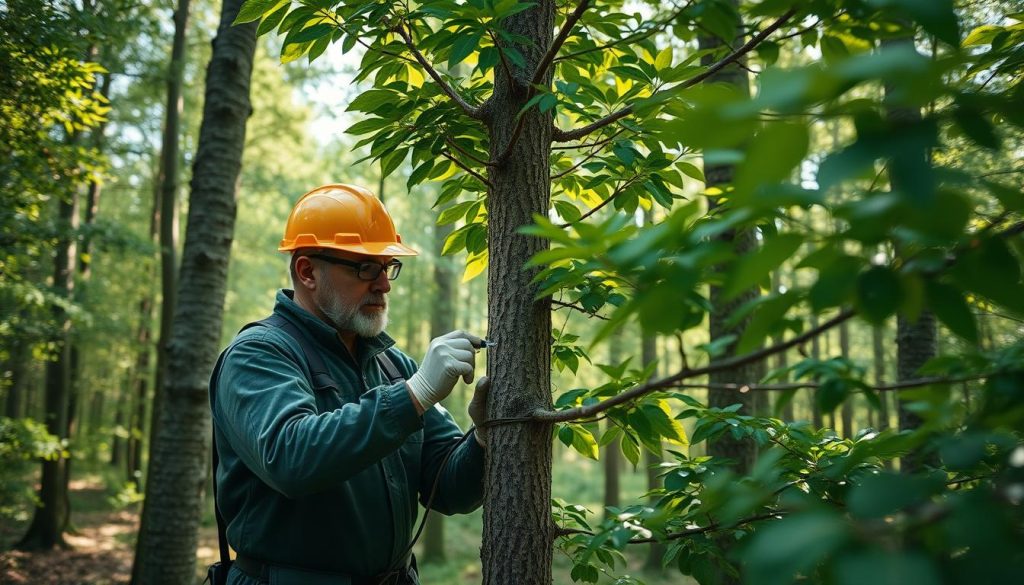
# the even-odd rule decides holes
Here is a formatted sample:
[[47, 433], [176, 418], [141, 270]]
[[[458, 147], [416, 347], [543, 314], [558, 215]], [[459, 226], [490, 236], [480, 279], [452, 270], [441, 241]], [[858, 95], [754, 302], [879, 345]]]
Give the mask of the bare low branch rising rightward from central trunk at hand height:
[[655, 380], [648, 382], [646, 384], [641, 384], [625, 391], [621, 394], [611, 396], [610, 399], [601, 401], [588, 406], [581, 406], [571, 409], [561, 410], [561, 411], [549, 411], [549, 410], [538, 410], [534, 412], [534, 417], [538, 421], [544, 421], [549, 423], [555, 422], [566, 422], [570, 420], [575, 420], [579, 418], [588, 418], [596, 415], [597, 413], [604, 412], [610, 408], [616, 407], [621, 404], [628, 403], [630, 401], [639, 399], [644, 394], [648, 394], [655, 390], [660, 390], [665, 388], [674, 387], [677, 383], [682, 380], [689, 378], [696, 378], [698, 376], [706, 376], [715, 372], [723, 372], [726, 370], [732, 370], [739, 368], [740, 366], [745, 366], [748, 364], [753, 364], [755, 362], [760, 362], [769, 356], [774, 356], [781, 351], [785, 351], [791, 347], [800, 345], [808, 339], [812, 339], [834, 327], [839, 326], [843, 322], [849, 320], [854, 316], [852, 309], [844, 310], [833, 319], [822, 323], [814, 329], [808, 330], [793, 339], [783, 341], [781, 343], [776, 343], [770, 347], [765, 347], [763, 349], [758, 349], [757, 351], [751, 351], [750, 353], [744, 353], [742, 356], [736, 356], [734, 358], [729, 358], [721, 362], [715, 362], [702, 368], [684, 368], [682, 371], [669, 376], [667, 378], [662, 378], [660, 380]]

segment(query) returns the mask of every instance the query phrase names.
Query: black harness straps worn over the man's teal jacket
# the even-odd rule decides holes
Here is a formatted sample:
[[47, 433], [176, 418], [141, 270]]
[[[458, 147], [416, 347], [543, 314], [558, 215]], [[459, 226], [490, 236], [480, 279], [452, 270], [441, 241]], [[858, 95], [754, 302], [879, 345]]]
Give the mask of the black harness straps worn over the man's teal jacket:
[[[327, 365], [324, 363], [324, 359], [321, 357], [319, 351], [316, 350], [313, 342], [309, 339], [308, 334], [303, 331], [300, 327], [288, 321], [284, 317], [273, 314], [266, 319], [261, 319], [260, 321], [254, 321], [252, 323], [247, 323], [239, 330], [239, 333], [247, 329], [252, 329], [253, 327], [272, 327], [274, 329], [280, 329], [285, 333], [288, 333], [302, 348], [302, 356], [306, 361], [306, 365], [309, 367], [309, 383], [312, 385], [314, 391], [321, 390], [338, 390], [338, 384], [331, 377], [327, 369]], [[224, 350], [220, 357], [217, 359], [217, 365], [213, 369], [213, 379], [211, 380], [211, 385], [216, 381], [217, 376], [220, 373], [220, 367], [224, 362], [224, 356], [227, 351]], [[376, 356], [377, 364], [380, 365], [384, 374], [388, 378], [388, 382], [391, 384], [396, 384], [399, 381], [406, 379], [406, 376], [401, 375], [397, 366], [388, 354], [381, 351]], [[210, 407], [213, 408], [213, 403], [216, 401], [216, 393], [210, 393]], [[231, 557], [228, 552], [227, 547], [227, 534], [226, 527], [227, 523], [224, 521], [224, 516], [220, 513], [220, 506], [217, 505], [217, 465], [220, 463], [220, 457], [217, 455], [217, 434], [213, 433], [213, 510], [217, 517], [217, 541], [220, 545], [220, 568], [213, 570], [207, 576], [207, 579], [211, 580], [214, 585], [221, 585], [227, 581], [227, 570], [231, 566]], [[415, 542], [415, 541], [414, 541]], [[216, 574], [214, 573], [216, 571]], [[219, 581], [219, 583], [218, 583]]]

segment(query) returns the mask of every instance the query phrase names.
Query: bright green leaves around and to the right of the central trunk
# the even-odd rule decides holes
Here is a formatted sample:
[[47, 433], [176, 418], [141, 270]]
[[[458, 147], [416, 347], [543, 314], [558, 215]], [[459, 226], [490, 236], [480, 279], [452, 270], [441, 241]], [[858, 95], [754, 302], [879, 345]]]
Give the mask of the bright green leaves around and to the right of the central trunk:
[[[441, 183], [439, 222], [458, 225], [444, 253], [466, 250], [470, 278], [487, 253], [489, 168], [506, 151], [489, 143], [484, 122], [494, 80], [532, 82], [518, 114], [555, 121], [551, 209], [521, 229], [551, 244], [528, 262], [540, 268], [537, 296], [607, 320], [589, 339], [557, 332], [559, 371], [589, 368], [594, 344], [634, 322], [656, 335], [702, 328], [710, 286], [738, 298], [769, 289], [782, 265], [796, 271], [786, 290], [729, 316], [749, 319], [743, 331], [698, 346], [680, 371], [649, 382], [655, 365], [597, 366], [605, 383], [554, 398], [547, 415], [558, 438], [587, 457], [618, 445], [637, 465], [643, 449], [726, 434], [763, 449], [745, 477], [728, 461], [673, 451], [659, 499], [612, 510], [601, 525], [556, 502], [565, 529], [556, 545], [572, 556], [572, 578], [614, 574], [627, 544], [656, 538], [670, 543], [666, 563], [701, 583], [1020, 580], [1024, 361], [1020, 343], [988, 352], [973, 344], [978, 309], [1024, 317], [1024, 195], [1006, 178], [1019, 175], [979, 164], [1019, 173], [1021, 14], [951, 0], [764, 0], [739, 3], [738, 13], [720, 0], [569, 2], [556, 31], [569, 14], [579, 22], [552, 68], [531, 72], [523, 51], [534, 47], [506, 24], [534, 7], [250, 0], [240, 20], [276, 31], [284, 60], [316, 58], [331, 43], [362, 46], [356, 80], [373, 86], [350, 103], [365, 118], [349, 132], [385, 174], [409, 161], [409, 187]], [[985, 24], [970, 30], [975, 14]], [[740, 31], [756, 46], [740, 48]], [[707, 35], [724, 43], [698, 50]], [[712, 67], [735, 60], [757, 72], [753, 96], [707, 82]], [[828, 148], [819, 143], [826, 123], [838, 128]], [[733, 165], [731, 183], [706, 189], [698, 160]], [[703, 196], [715, 198], [710, 212]], [[639, 226], [640, 209], [656, 209], [657, 221]], [[827, 227], [809, 220], [822, 215]], [[721, 238], [736, 231], [756, 234], [757, 250]], [[877, 325], [925, 310], [972, 348], [919, 372], [938, 381], [896, 388], [924, 418], [918, 429], [839, 438], [673, 391], [728, 367], [715, 361], [734, 341], [738, 360], [753, 361], [769, 356], [756, 353], [767, 339], [823, 333], [812, 317], [841, 311]], [[849, 359], [804, 360], [749, 385], [791, 379], [815, 387], [822, 411], [858, 394], [879, 405], [888, 391]], [[970, 404], [950, 391], [953, 381], [970, 384]], [[798, 388], [782, 389], [779, 405]], [[598, 414], [613, 423], [600, 436]], [[692, 424], [688, 437], [680, 421]], [[911, 450], [937, 454], [938, 466], [887, 470]], [[991, 530], [980, 528], [985, 517], [998, 518]]]

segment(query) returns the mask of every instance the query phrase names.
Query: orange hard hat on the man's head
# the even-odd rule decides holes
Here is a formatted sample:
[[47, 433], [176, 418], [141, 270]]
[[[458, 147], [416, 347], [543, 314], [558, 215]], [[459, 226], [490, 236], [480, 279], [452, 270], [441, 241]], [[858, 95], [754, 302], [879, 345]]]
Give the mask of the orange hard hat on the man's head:
[[326, 184], [296, 202], [279, 252], [330, 248], [371, 256], [416, 256], [379, 199], [351, 184]]

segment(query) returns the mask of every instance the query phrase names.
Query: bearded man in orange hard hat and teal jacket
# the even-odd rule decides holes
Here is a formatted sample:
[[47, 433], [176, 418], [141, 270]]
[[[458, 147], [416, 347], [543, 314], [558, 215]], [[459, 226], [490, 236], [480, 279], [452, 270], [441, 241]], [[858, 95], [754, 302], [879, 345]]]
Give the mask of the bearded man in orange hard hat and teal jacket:
[[217, 505], [238, 552], [228, 583], [415, 585], [417, 500], [445, 514], [482, 500], [483, 440], [438, 405], [472, 381], [482, 340], [438, 337], [419, 368], [393, 346], [387, 294], [397, 257], [417, 252], [364, 189], [303, 196], [279, 250], [292, 254], [294, 291], [236, 337], [210, 388]]

